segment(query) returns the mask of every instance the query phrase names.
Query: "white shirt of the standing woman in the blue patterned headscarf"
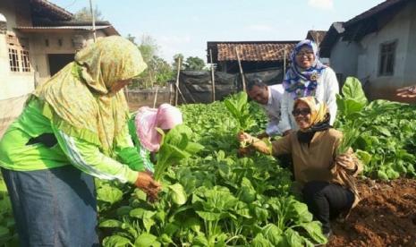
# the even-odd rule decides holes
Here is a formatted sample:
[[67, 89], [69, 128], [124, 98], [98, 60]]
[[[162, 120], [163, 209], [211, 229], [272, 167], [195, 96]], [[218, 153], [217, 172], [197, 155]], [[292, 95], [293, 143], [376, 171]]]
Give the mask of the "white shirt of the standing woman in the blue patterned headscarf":
[[[326, 69], [324, 69], [321, 76], [318, 78], [318, 86], [315, 91], [315, 97], [321, 100], [322, 102], [327, 103], [327, 106], [329, 108], [329, 114], [331, 115], [331, 119], [329, 120], [329, 124], [331, 125], [335, 122], [337, 110], [335, 96], [338, 93], [339, 85], [338, 81], [336, 80], [335, 72], [331, 68], [327, 67]], [[279, 124], [282, 132], [291, 129], [298, 129], [298, 125], [294, 121], [292, 115], [293, 103], [293, 96], [290, 93], [284, 91], [281, 103], [282, 120]]]

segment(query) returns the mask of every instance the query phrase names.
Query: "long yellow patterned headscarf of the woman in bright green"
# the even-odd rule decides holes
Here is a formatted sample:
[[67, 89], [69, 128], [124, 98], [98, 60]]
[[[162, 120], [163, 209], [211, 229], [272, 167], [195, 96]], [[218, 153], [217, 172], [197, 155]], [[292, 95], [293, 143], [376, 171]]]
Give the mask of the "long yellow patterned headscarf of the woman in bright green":
[[81, 49], [75, 62], [38, 87], [34, 95], [45, 103], [43, 114], [55, 126], [98, 144], [112, 156], [117, 137], [125, 132], [129, 108], [123, 90], [112, 93], [110, 89], [146, 68], [138, 47], [126, 38], [100, 38]]

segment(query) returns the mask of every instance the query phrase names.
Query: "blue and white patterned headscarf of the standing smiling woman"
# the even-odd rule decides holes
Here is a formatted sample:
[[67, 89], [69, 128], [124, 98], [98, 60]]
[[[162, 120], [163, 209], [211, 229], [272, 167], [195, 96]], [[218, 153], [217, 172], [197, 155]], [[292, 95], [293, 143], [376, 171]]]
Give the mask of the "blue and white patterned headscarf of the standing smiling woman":
[[[315, 55], [315, 61], [313, 61], [312, 66], [309, 69], [302, 71], [301, 67], [296, 64], [296, 55], [301, 50], [301, 47], [305, 46], [312, 49], [313, 54]], [[318, 79], [323, 70], [327, 68], [326, 65], [319, 61], [317, 45], [310, 39], [302, 40], [293, 48], [291, 59], [292, 67], [284, 75], [284, 90], [290, 93], [293, 98], [315, 96]]]

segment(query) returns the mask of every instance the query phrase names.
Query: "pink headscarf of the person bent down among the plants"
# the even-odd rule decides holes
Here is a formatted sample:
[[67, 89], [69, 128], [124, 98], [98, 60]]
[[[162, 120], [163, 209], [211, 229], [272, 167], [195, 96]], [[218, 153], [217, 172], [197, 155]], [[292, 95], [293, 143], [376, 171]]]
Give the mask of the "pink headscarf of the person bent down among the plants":
[[177, 124], [182, 123], [181, 111], [169, 104], [162, 104], [157, 109], [142, 106], [139, 108], [135, 119], [136, 132], [140, 143], [151, 152], [160, 148], [162, 139], [156, 128], [170, 130]]

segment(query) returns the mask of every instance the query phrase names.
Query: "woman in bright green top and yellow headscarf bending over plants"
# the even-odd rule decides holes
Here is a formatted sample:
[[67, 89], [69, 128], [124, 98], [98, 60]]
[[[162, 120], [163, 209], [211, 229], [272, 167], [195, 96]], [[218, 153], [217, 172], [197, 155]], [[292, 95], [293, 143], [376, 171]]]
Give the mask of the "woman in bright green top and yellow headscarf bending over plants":
[[129, 40], [98, 39], [36, 89], [4, 133], [0, 166], [21, 246], [98, 244], [93, 176], [157, 196], [159, 183], [123, 152], [133, 145], [121, 89], [146, 67]]

